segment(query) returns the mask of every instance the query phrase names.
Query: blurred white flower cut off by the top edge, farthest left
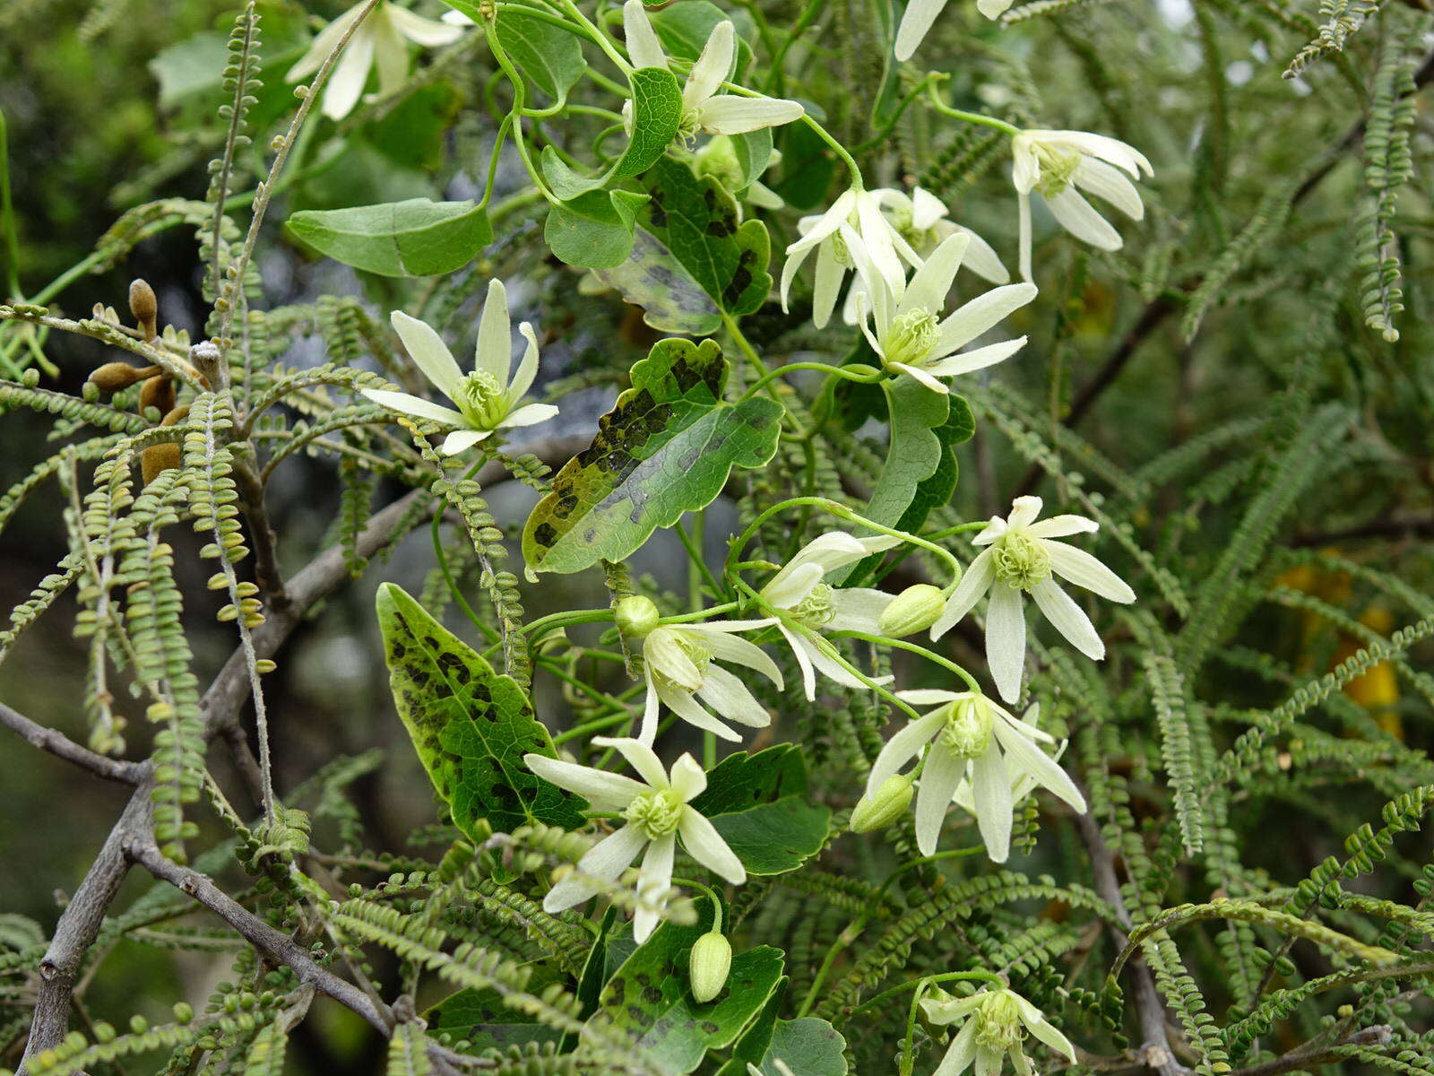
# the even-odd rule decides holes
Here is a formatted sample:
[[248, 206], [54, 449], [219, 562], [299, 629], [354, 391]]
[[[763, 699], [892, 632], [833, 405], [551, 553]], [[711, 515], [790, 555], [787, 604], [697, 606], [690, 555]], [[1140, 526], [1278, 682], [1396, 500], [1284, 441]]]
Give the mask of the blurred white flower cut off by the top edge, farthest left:
[[[363, 14], [367, 4], [357, 3], [341, 16], [320, 30], [308, 46], [308, 52], [298, 57], [298, 63], [288, 69], [287, 82], [298, 82], [308, 77], [324, 66], [328, 53], [338, 44], [348, 27]], [[363, 96], [364, 83], [369, 82], [369, 69], [379, 67], [379, 92], [393, 93], [409, 77], [409, 46], [404, 39], [426, 49], [440, 44], [450, 44], [463, 36], [462, 26], [452, 26], [432, 19], [423, 19], [413, 11], [397, 4], [379, 4], [364, 19], [363, 24], [354, 30], [348, 39], [344, 55], [338, 57], [328, 85], [324, 88], [324, 115], [330, 119], [343, 119], [353, 112], [358, 98]]]

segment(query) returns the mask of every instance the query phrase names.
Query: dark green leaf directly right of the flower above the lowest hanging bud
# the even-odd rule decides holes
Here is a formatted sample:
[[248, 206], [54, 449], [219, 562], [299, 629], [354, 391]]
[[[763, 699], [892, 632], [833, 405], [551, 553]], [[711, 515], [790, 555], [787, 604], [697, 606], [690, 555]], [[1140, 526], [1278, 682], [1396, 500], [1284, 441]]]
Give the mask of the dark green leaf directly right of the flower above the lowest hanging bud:
[[693, 809], [713, 823], [753, 875], [784, 874], [826, 842], [832, 812], [809, 803], [806, 758], [790, 743], [723, 759]]

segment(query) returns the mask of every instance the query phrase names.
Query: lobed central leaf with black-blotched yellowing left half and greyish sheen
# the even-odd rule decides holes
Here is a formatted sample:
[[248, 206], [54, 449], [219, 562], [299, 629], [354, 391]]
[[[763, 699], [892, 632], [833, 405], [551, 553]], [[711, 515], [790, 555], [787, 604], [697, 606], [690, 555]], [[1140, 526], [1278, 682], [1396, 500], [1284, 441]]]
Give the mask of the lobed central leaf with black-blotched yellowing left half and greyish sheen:
[[632, 367], [632, 387], [598, 419], [592, 445], [564, 465], [528, 516], [528, 570], [619, 561], [658, 527], [711, 504], [734, 466], [771, 459], [782, 405], [728, 403], [726, 382], [727, 360], [713, 340], [660, 340]]

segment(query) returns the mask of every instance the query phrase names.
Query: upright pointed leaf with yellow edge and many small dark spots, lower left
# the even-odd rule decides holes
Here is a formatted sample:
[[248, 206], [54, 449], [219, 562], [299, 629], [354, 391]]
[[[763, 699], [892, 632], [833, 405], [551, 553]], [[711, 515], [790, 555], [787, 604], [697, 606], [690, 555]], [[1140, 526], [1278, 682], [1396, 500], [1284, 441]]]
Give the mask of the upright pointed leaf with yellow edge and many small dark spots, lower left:
[[532, 822], [581, 826], [587, 802], [523, 763], [525, 753], [556, 752], [518, 681], [394, 584], [379, 588], [377, 607], [399, 717], [453, 825], [469, 838], [483, 819], [496, 832]]

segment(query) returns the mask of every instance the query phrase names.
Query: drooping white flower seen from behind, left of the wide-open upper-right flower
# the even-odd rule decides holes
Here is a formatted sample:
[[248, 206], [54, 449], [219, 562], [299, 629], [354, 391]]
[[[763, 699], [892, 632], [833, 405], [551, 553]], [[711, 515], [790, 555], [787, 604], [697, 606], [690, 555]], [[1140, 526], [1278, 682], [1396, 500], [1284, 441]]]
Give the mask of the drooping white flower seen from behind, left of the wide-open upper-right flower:
[[[901, 232], [882, 214], [880, 199], [875, 191], [850, 188], [832, 202], [832, 208], [816, 217], [797, 221], [802, 238], [787, 247], [787, 260], [782, 267], [782, 308], [787, 308], [787, 291], [807, 255], [816, 251], [816, 290], [812, 296], [812, 323], [822, 329], [836, 307], [836, 293], [852, 268], [879, 275], [889, 291], [901, 296], [906, 287], [906, 270], [902, 258], [919, 265], [921, 258], [902, 238]], [[859, 247], [865, 261], [858, 261], [853, 248]], [[865, 268], [863, 268], [865, 265]], [[866, 287], [873, 287], [866, 281]]]

